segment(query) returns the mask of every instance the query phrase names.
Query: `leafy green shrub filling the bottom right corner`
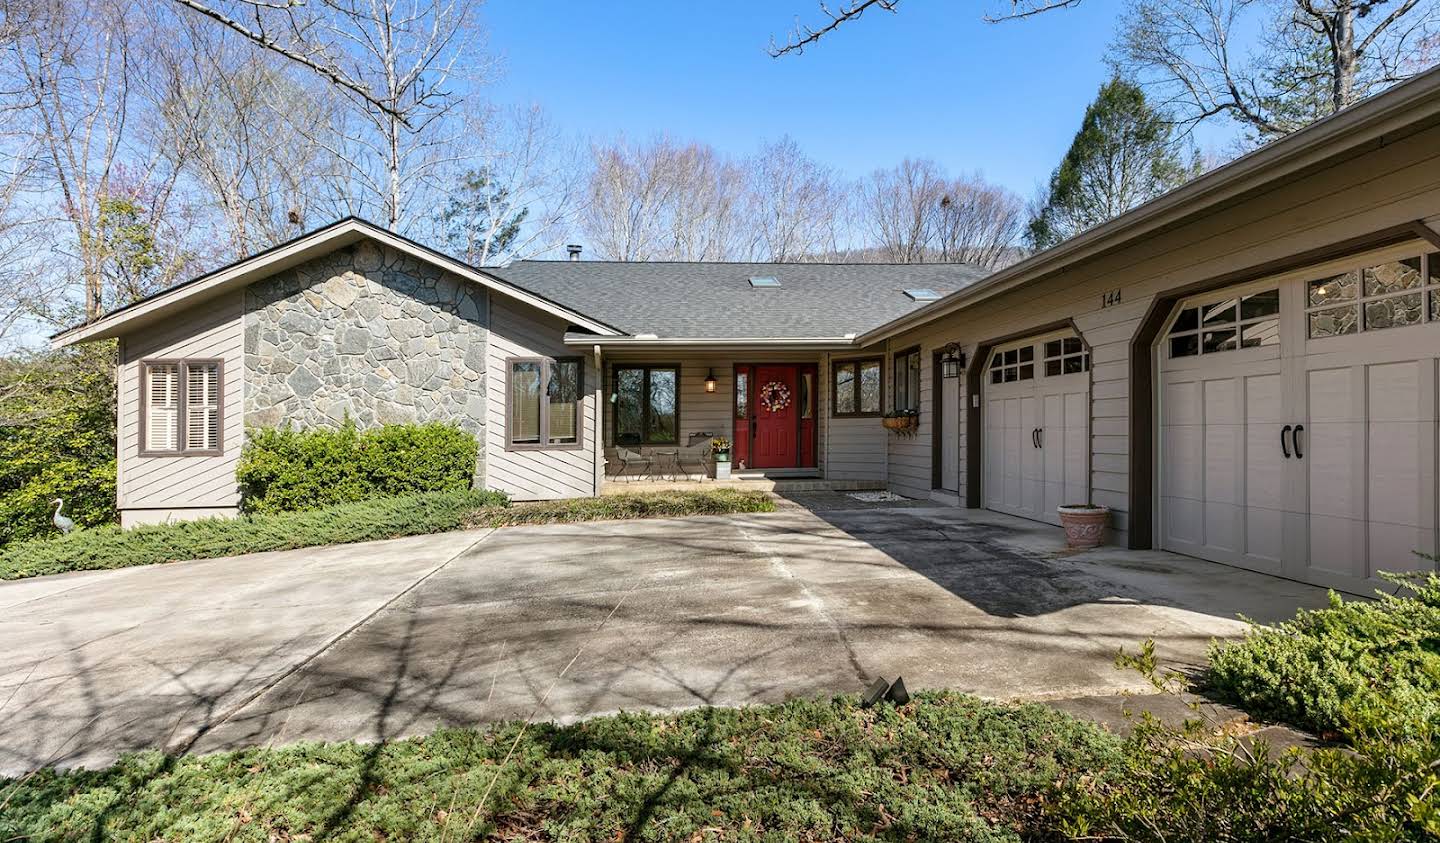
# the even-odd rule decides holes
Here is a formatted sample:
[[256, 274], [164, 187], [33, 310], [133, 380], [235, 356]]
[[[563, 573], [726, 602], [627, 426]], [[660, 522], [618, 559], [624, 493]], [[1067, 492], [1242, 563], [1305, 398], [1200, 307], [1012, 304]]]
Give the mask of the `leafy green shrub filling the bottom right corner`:
[[1145, 722], [1119, 762], [1060, 781], [1047, 810], [1074, 840], [1434, 840], [1437, 759], [1433, 732], [1280, 752], [1194, 723]]

